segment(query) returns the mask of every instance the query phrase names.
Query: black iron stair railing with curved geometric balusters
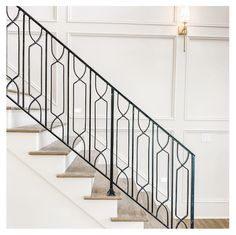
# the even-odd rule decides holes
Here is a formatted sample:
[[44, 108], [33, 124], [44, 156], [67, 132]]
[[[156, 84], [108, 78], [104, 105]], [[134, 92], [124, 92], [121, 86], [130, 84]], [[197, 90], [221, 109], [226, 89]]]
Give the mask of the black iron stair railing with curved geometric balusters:
[[110, 181], [109, 196], [115, 186], [164, 227], [194, 227], [194, 154], [21, 7], [7, 8], [8, 89]]

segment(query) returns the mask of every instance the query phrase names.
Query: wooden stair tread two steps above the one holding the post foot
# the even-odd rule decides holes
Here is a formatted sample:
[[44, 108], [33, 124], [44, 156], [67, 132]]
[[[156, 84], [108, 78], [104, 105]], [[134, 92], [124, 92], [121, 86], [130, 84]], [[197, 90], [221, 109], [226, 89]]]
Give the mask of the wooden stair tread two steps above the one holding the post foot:
[[[72, 143], [76, 137], [69, 137], [69, 144]], [[65, 140], [67, 137], [65, 137]], [[53, 143], [41, 148], [37, 151], [30, 151], [29, 155], [68, 155], [71, 149], [68, 148], [60, 140], [54, 141]]]

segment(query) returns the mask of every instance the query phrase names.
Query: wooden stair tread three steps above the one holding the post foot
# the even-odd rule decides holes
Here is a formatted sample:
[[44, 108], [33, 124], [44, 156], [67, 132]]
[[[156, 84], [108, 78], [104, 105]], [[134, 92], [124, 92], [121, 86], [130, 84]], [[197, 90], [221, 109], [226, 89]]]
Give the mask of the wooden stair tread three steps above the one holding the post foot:
[[[50, 126], [50, 124], [51, 123], [48, 123], [48, 126]], [[60, 126], [61, 126], [61, 123], [58, 123], [58, 124], [54, 123], [53, 128], [60, 127]], [[43, 131], [46, 131], [46, 129], [40, 124], [7, 128], [7, 132], [18, 132], [18, 133], [40, 133]]]

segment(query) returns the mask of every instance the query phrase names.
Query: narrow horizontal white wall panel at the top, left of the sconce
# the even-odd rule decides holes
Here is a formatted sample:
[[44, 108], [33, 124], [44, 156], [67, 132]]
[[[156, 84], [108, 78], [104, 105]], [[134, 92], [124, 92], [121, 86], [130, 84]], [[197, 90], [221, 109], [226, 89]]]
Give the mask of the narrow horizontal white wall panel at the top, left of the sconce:
[[174, 6], [100, 6], [68, 7], [68, 22], [107, 23], [107, 24], [175, 24]]

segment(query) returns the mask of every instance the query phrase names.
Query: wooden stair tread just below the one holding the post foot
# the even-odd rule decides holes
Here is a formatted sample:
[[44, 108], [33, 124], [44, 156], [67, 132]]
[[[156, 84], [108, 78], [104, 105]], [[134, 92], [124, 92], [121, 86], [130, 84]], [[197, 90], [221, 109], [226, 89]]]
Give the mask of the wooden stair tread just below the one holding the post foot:
[[[119, 186], [126, 188], [126, 179], [119, 179]], [[129, 179], [131, 183], [131, 179]], [[130, 187], [129, 187], [130, 188]], [[111, 218], [112, 222], [146, 222], [147, 217], [144, 210], [124, 193], [121, 193], [122, 200], [118, 202], [118, 216]], [[137, 188], [134, 187], [134, 195], [137, 195]]]

